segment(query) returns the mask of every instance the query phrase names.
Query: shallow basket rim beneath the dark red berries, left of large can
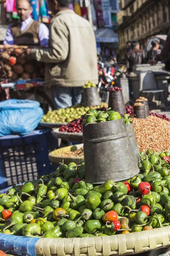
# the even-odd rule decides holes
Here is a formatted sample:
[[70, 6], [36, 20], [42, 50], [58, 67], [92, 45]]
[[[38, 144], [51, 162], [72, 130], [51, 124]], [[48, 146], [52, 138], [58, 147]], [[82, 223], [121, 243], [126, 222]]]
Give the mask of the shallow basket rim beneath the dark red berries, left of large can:
[[52, 135], [66, 141], [81, 142], [83, 141], [83, 133], [61, 132], [59, 128], [52, 130]]

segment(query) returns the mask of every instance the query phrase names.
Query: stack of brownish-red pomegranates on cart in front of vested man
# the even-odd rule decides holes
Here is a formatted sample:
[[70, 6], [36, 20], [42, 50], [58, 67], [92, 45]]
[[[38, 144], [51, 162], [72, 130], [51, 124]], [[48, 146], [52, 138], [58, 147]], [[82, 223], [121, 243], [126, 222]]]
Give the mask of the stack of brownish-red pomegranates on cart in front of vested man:
[[25, 55], [25, 49], [14, 49], [12, 46], [1, 49], [0, 59], [0, 79], [26, 80], [44, 77], [45, 65], [38, 61], [32, 62], [31, 57]]

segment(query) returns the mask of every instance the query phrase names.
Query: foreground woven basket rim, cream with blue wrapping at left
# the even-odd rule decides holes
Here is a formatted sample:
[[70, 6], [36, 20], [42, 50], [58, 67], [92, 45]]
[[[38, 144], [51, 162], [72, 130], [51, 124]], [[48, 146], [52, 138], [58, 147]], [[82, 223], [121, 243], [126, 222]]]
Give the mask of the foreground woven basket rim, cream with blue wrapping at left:
[[[73, 239], [38, 239], [0, 234], [0, 247], [11, 254], [30, 256], [111, 256], [155, 250], [170, 245], [170, 227], [114, 236]], [[25, 241], [25, 242], [24, 242]]]

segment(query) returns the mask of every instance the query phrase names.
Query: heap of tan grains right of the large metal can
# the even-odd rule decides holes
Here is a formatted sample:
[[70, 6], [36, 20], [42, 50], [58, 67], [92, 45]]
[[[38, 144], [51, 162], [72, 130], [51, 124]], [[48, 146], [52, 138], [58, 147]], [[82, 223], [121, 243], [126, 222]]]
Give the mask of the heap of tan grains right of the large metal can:
[[170, 122], [156, 116], [132, 119], [139, 151], [170, 150]]

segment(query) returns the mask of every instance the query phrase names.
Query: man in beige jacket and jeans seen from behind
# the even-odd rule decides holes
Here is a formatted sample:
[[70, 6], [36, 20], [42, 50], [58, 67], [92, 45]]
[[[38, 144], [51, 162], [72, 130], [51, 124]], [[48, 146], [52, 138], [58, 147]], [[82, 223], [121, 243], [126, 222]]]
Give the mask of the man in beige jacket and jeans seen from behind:
[[98, 83], [97, 51], [92, 26], [69, 9], [69, 0], [48, 0], [48, 7], [54, 15], [49, 48], [27, 53], [46, 63], [45, 87], [59, 109], [81, 101], [85, 82]]

